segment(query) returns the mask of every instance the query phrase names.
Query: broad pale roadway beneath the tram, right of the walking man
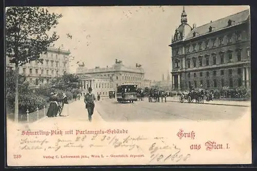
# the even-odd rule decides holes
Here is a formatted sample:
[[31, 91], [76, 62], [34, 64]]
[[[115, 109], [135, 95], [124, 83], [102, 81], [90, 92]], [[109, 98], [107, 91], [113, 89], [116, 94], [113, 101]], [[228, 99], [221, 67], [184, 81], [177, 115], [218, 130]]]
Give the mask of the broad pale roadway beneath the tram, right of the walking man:
[[250, 107], [209, 105], [179, 102], [118, 103], [116, 99], [103, 98], [98, 102], [98, 112], [105, 121], [168, 121], [168, 120], [220, 120], [237, 119], [249, 112]]

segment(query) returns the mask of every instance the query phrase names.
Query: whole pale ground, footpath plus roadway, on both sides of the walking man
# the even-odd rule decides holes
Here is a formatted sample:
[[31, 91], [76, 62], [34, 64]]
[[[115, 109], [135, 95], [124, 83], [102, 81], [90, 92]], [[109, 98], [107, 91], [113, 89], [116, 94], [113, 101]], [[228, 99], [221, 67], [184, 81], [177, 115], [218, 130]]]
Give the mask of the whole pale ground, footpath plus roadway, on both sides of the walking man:
[[[235, 102], [236, 105], [238, 103], [240, 102]], [[246, 104], [245, 102], [241, 103]], [[68, 105], [69, 113], [63, 113], [64, 116], [45, 118], [43, 121], [88, 122], [83, 98]], [[237, 119], [249, 111], [250, 106], [233, 106], [231, 104], [180, 103], [176, 102], [176, 99], [167, 102], [164, 102], [164, 99], [163, 102], [148, 102], [147, 98], [144, 101], [135, 101], [134, 103], [118, 103], [116, 99], [104, 97], [96, 102], [92, 121], [218, 121]]]

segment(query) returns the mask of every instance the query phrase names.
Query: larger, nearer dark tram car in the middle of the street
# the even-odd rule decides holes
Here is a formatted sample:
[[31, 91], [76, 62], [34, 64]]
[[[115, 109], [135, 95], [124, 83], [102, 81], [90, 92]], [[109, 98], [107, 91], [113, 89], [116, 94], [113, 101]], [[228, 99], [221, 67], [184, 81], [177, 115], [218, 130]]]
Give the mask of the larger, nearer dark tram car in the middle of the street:
[[117, 87], [117, 101], [134, 102], [137, 101], [137, 84], [122, 84]]

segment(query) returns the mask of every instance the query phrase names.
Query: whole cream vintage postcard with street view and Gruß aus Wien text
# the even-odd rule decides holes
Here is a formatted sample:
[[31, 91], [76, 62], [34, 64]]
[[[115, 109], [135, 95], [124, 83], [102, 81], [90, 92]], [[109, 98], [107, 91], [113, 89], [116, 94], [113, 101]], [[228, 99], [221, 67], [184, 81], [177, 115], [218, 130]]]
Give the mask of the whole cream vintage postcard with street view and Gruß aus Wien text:
[[5, 16], [8, 166], [252, 162], [249, 6]]

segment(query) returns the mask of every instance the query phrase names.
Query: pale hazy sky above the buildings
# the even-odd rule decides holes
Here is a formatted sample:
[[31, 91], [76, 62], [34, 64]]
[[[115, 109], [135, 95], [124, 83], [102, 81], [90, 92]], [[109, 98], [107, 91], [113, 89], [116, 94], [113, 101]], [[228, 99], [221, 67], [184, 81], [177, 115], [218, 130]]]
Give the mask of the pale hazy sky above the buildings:
[[[171, 72], [171, 37], [180, 25], [183, 6], [46, 7], [61, 13], [54, 47], [70, 50], [70, 72], [77, 61], [88, 69], [140, 63], [145, 79], [161, 80]], [[185, 6], [188, 24], [201, 26], [249, 9], [249, 6]], [[71, 38], [67, 36], [71, 35]]]

